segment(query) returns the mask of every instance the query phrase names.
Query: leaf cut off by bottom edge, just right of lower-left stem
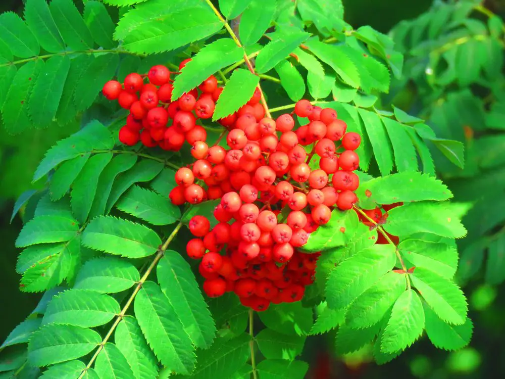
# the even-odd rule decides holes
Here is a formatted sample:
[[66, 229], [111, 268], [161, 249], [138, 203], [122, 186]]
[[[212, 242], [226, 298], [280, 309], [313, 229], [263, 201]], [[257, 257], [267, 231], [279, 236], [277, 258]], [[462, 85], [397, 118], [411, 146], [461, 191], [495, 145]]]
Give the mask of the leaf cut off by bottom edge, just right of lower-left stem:
[[110, 342], [96, 357], [94, 368], [100, 379], [135, 379], [125, 356]]

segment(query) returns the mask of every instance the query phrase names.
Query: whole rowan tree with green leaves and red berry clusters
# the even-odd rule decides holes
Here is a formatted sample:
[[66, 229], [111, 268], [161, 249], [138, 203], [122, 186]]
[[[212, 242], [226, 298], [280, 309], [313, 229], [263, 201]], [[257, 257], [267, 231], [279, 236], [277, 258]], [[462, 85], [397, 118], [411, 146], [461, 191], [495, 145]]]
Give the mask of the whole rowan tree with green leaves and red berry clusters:
[[[495, 156], [463, 169], [499, 152], [497, 17], [440, 4], [385, 35], [347, 24], [339, 0], [77, 3], [0, 15], [3, 127], [22, 137], [81, 120], [38, 165], [44, 188], [15, 205], [20, 290], [43, 296], [0, 347], [5, 377], [292, 379], [315, 335], [334, 335], [339, 354], [372, 346], [378, 364], [423, 335], [469, 343], [458, 246], [458, 277], [480, 250], [457, 244], [461, 220], [495, 283], [503, 219], [496, 207], [472, 220], [474, 199], [451, 199], [487, 175], [484, 204], [501, 183]], [[412, 84], [409, 114], [393, 95]], [[239, 166], [212, 149], [259, 153]]]

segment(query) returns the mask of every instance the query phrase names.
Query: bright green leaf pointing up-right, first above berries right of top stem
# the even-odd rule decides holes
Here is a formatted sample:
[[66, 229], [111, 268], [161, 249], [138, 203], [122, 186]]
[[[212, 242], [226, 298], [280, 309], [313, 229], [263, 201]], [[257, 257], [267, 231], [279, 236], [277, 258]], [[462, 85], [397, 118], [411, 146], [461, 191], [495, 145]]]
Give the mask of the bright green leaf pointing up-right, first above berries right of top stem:
[[[264, 7], [263, 7], [264, 8]], [[262, 12], [264, 9], [262, 9]], [[243, 15], [240, 21], [240, 26], [243, 22]], [[302, 42], [305, 42], [310, 37], [309, 33], [292, 30], [289, 33], [279, 35], [278, 38], [271, 40], [260, 51], [256, 57], [256, 71], [263, 74], [273, 69], [279, 62], [284, 60], [287, 55]]]

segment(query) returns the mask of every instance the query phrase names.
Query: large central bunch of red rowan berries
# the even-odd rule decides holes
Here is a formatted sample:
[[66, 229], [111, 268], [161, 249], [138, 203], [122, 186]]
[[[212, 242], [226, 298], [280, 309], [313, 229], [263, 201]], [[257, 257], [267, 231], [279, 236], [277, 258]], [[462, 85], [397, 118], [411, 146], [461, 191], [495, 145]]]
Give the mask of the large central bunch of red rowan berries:
[[[170, 193], [176, 205], [221, 199], [212, 230], [204, 216], [189, 222], [197, 238], [187, 244], [187, 253], [201, 258], [207, 295], [234, 291], [257, 311], [271, 302], [300, 300], [312, 283], [318, 254], [296, 248], [330, 220], [333, 207], [349, 210], [356, 203], [359, 178], [352, 171], [361, 143], [359, 134], [346, 133], [333, 109], [299, 101], [293, 113], [309, 123], [293, 131], [291, 114], [276, 120], [256, 115], [260, 98], [255, 93], [221, 120], [229, 129], [229, 149], [193, 144], [196, 161], [176, 172], [178, 186]], [[317, 169], [311, 169], [313, 158], [319, 159]]]

